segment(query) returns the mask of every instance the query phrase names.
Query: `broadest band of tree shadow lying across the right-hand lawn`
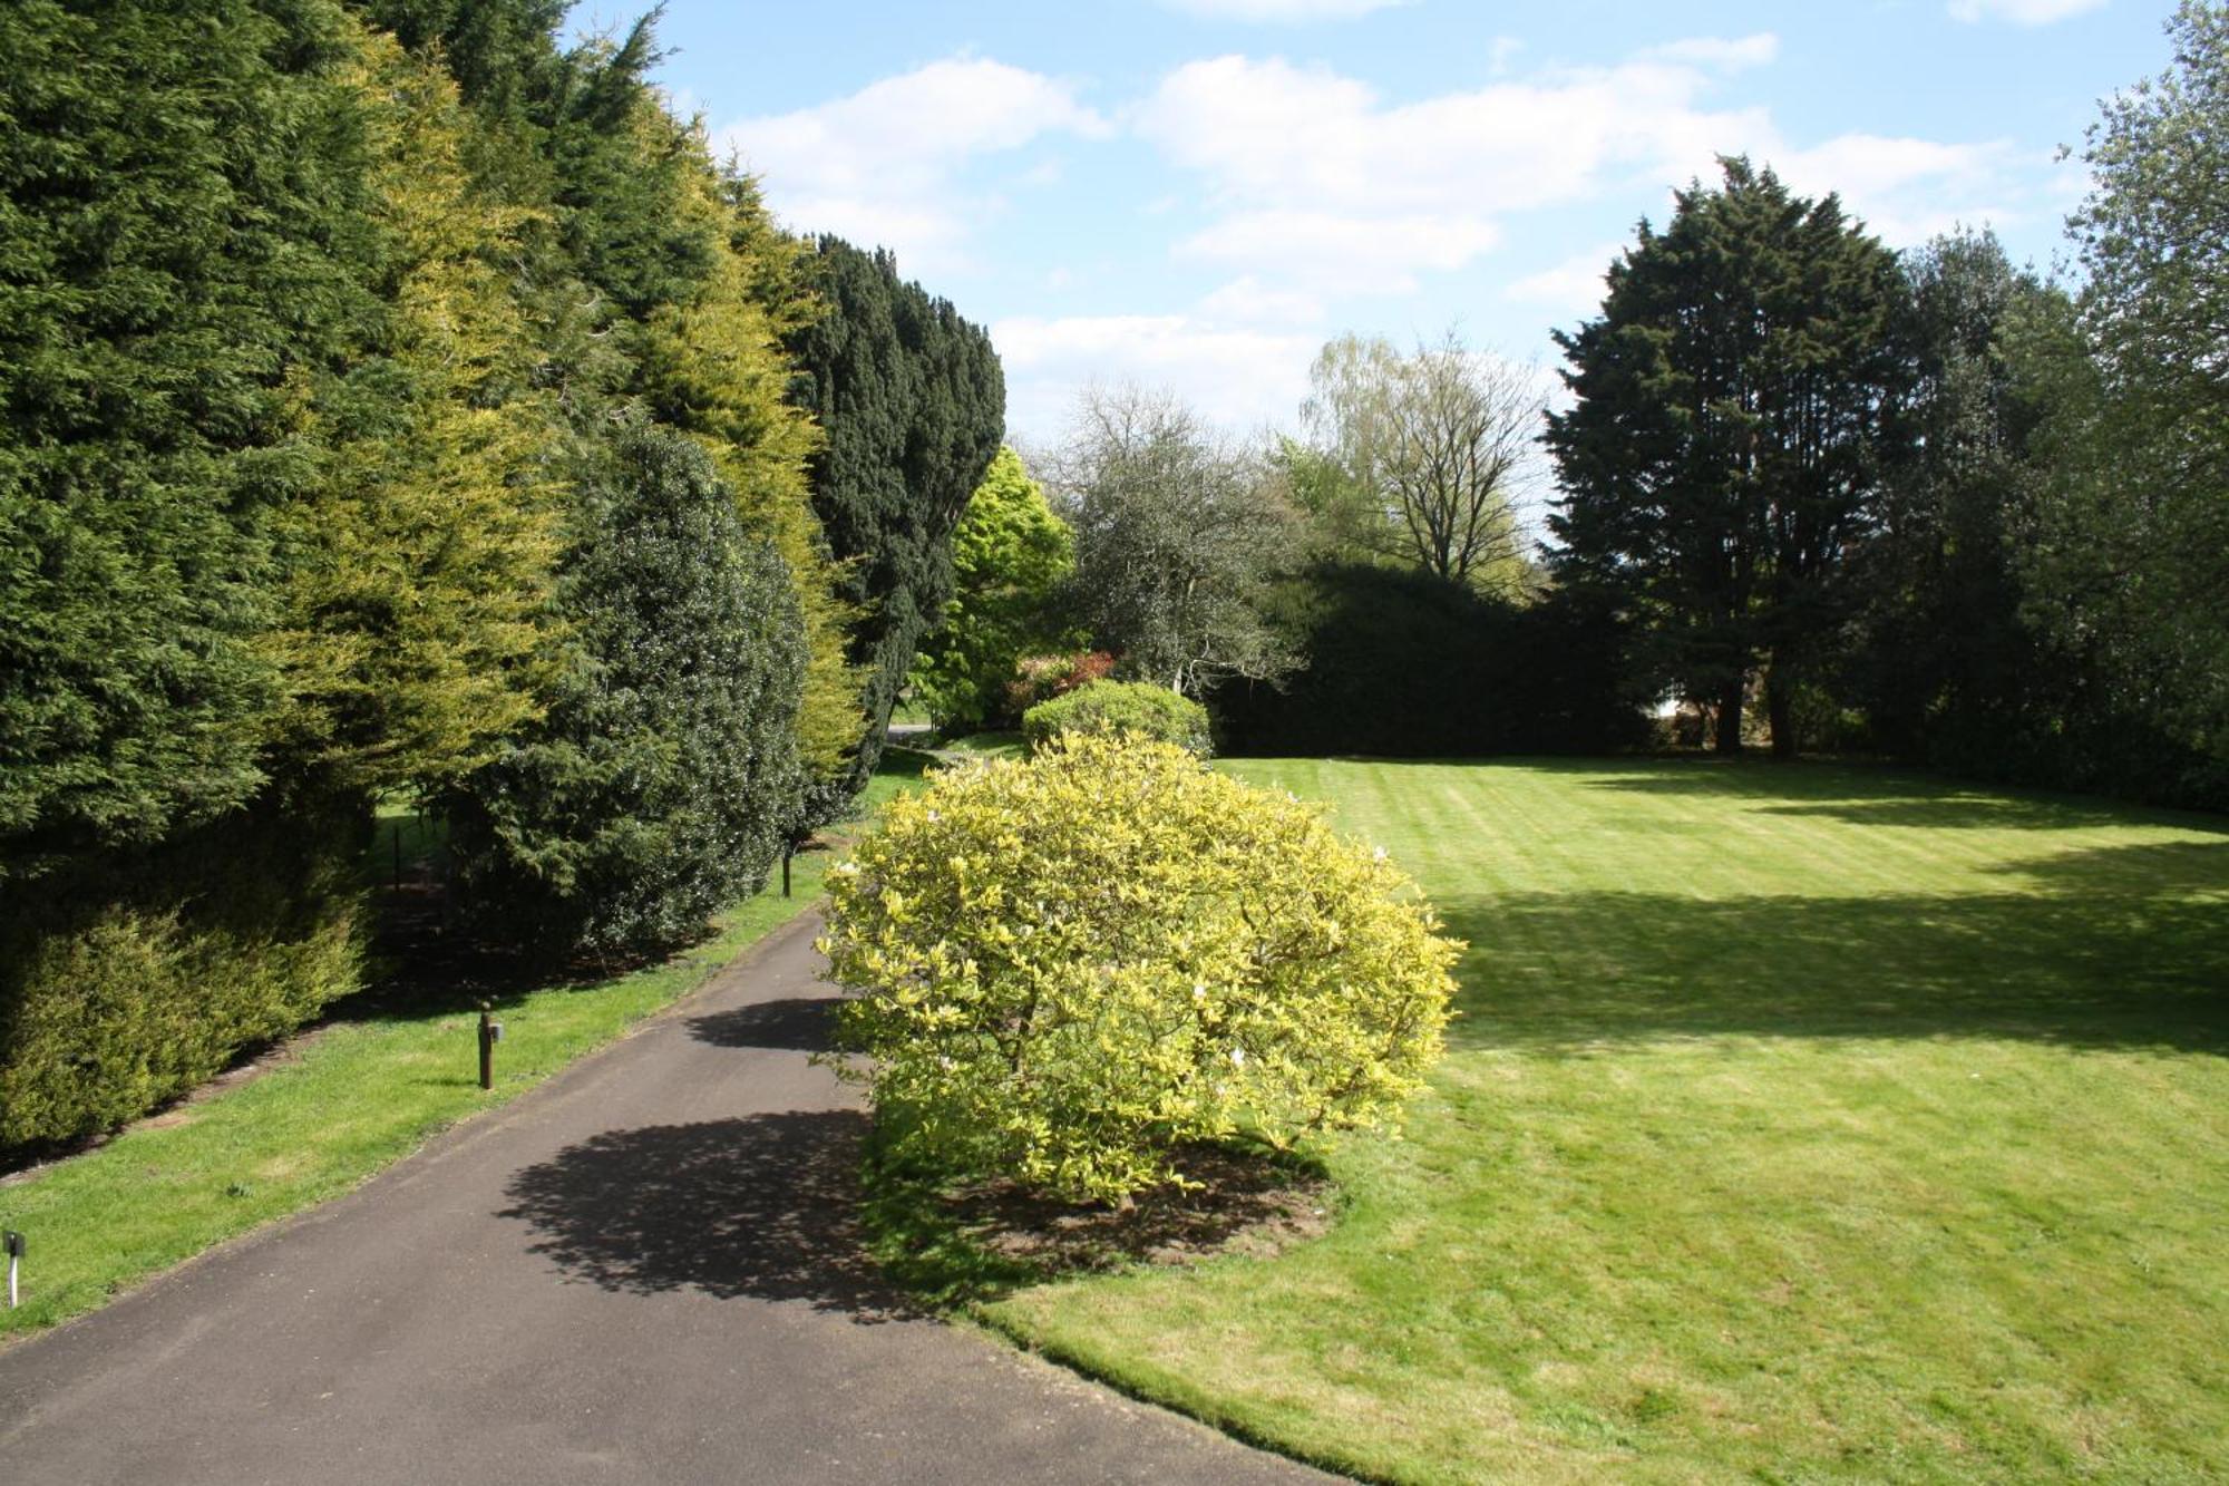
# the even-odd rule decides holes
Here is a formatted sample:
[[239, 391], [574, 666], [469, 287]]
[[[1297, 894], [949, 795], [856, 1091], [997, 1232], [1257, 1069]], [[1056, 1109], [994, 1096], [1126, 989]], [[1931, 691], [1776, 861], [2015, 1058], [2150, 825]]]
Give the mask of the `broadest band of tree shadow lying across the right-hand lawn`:
[[2026, 1038], [2229, 1053], [2229, 841], [2002, 868], [2028, 892], [1440, 901], [1464, 957], [1458, 1046]]

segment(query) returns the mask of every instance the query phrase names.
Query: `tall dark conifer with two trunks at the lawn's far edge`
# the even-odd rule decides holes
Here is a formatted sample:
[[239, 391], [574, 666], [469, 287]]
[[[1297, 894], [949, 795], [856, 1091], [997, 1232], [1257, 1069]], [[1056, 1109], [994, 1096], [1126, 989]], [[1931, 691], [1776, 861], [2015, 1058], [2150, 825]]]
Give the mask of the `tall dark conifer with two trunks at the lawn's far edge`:
[[1556, 341], [1574, 404], [1549, 417], [1558, 576], [1600, 589], [1663, 681], [1741, 747], [1763, 669], [1772, 750], [1852, 605], [1910, 386], [1897, 259], [1834, 196], [1748, 161], [1678, 192], [1609, 270], [1603, 312]]

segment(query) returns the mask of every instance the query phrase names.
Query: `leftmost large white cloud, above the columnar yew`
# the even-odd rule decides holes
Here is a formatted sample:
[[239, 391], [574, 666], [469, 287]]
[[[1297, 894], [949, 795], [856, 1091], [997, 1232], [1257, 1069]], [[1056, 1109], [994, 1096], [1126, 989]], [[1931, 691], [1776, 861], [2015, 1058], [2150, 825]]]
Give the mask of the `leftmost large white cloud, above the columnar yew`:
[[[987, 58], [950, 58], [794, 114], [718, 132], [762, 176], [778, 216], [809, 232], [887, 245], [907, 272], [963, 254], [967, 223], [994, 203], [956, 183], [976, 156], [1110, 125], [1068, 83]], [[1021, 185], [1043, 183], [1023, 172]]]

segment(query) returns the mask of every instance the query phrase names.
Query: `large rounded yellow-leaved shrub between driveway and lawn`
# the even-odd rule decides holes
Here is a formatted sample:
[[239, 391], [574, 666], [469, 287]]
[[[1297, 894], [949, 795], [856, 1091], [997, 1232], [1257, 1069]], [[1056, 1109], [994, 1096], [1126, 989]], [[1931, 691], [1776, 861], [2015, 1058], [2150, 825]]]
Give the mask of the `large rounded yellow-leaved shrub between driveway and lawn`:
[[892, 1154], [1068, 1200], [1386, 1122], [1462, 951], [1317, 805], [1112, 734], [936, 774], [829, 884], [838, 1046]]

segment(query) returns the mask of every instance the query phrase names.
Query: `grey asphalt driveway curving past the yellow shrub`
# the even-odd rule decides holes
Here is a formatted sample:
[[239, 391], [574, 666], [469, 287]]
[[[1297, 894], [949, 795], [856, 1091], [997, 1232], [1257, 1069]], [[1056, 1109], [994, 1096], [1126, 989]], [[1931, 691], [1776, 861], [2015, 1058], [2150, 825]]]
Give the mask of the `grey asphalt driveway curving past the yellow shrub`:
[[0, 1479], [1308, 1482], [914, 1312], [805, 919], [635, 1035], [0, 1354]]

